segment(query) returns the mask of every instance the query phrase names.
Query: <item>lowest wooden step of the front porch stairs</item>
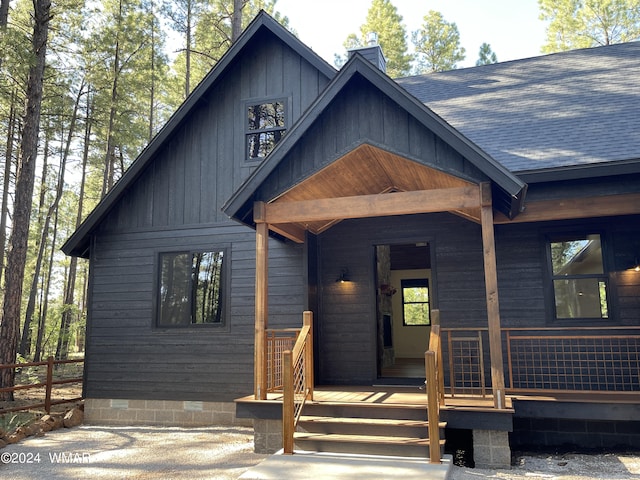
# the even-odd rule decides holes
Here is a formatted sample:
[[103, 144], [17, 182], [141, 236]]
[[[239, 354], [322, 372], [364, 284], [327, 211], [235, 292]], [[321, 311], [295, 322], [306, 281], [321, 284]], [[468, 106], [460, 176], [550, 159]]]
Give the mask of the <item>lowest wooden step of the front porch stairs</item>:
[[[427, 438], [336, 433], [296, 432], [294, 442], [297, 448], [306, 451], [416, 458], [428, 458], [430, 448]], [[442, 451], [444, 440], [439, 447]]]

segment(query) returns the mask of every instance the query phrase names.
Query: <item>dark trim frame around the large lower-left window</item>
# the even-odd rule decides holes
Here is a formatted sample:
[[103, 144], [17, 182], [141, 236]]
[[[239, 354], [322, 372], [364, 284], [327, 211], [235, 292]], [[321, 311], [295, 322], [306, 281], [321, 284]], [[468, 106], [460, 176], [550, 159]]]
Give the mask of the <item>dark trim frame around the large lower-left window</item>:
[[[222, 252], [222, 312], [221, 322], [219, 323], [188, 323], [182, 325], [162, 325], [160, 324], [160, 285], [162, 282], [162, 255], [165, 254], [179, 254], [179, 253], [212, 253]], [[153, 330], [158, 332], [197, 332], [201, 328], [213, 329], [217, 332], [228, 332], [230, 325], [230, 284], [231, 284], [231, 247], [230, 245], [215, 245], [203, 248], [173, 248], [173, 249], [161, 249], [154, 252], [154, 284], [153, 284]]]

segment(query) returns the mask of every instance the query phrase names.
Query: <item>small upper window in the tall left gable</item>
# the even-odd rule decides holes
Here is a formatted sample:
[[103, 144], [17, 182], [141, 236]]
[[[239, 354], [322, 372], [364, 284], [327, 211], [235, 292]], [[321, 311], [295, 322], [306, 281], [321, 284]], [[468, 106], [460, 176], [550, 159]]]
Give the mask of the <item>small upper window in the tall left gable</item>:
[[247, 105], [247, 159], [266, 157], [286, 132], [284, 100]]

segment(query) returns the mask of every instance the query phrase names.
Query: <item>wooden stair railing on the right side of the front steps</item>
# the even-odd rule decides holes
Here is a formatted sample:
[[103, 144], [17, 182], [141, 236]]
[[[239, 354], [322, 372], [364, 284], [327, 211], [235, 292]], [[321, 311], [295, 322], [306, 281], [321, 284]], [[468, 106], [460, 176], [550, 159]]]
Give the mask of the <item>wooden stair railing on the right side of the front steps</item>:
[[424, 354], [427, 390], [427, 420], [429, 422], [429, 462], [440, 459], [440, 406], [444, 405], [444, 372], [442, 368], [440, 325], [431, 327], [429, 350]]

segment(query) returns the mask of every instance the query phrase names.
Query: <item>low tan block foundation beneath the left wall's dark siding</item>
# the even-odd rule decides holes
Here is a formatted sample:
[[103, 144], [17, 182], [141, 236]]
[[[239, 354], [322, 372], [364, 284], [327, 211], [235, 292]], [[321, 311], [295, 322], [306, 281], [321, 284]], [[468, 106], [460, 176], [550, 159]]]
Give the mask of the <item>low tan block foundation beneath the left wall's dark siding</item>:
[[124, 400], [87, 398], [84, 423], [100, 425], [162, 425], [202, 427], [212, 425], [252, 426], [253, 421], [236, 418], [234, 402], [173, 400]]

